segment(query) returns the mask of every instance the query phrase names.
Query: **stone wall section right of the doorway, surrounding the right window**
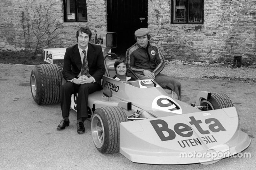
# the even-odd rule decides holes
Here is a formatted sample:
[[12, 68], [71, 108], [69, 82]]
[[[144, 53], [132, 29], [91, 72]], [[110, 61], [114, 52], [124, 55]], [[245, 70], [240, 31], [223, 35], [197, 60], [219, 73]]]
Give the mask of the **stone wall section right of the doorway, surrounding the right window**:
[[167, 59], [256, 61], [256, 0], [204, 0], [203, 25], [171, 24], [171, 1], [148, 1], [148, 28]]

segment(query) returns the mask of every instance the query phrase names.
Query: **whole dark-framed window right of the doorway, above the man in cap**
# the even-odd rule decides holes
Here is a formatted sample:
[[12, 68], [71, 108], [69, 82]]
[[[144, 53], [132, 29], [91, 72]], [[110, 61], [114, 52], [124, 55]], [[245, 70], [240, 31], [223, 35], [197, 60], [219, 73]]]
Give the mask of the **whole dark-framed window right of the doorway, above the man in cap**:
[[203, 24], [204, 0], [171, 0], [172, 24]]

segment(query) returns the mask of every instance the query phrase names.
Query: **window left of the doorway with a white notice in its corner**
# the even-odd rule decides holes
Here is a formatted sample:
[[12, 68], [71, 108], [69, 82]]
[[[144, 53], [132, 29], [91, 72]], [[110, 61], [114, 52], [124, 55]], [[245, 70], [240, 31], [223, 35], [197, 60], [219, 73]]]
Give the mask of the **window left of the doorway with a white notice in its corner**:
[[63, 0], [65, 22], [87, 22], [86, 0]]

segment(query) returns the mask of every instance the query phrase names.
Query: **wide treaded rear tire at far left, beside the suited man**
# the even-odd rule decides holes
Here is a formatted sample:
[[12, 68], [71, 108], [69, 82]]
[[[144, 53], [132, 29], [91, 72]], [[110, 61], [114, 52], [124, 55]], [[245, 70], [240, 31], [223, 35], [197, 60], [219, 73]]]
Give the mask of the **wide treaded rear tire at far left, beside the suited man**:
[[62, 68], [57, 64], [40, 64], [30, 74], [30, 88], [39, 105], [60, 103]]

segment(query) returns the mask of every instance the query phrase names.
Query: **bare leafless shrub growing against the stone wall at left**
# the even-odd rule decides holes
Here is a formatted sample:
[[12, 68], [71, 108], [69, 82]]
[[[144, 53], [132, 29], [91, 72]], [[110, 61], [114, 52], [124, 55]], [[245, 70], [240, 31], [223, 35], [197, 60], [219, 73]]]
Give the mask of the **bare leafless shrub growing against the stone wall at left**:
[[55, 11], [54, 1], [44, 1], [44, 3], [32, 5], [27, 2], [22, 11], [22, 27], [24, 32], [25, 45], [27, 50], [36, 52], [49, 46], [55, 41], [64, 39], [61, 34], [63, 32], [61, 28], [68, 27], [58, 24], [56, 18], [54, 18]]

